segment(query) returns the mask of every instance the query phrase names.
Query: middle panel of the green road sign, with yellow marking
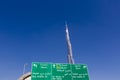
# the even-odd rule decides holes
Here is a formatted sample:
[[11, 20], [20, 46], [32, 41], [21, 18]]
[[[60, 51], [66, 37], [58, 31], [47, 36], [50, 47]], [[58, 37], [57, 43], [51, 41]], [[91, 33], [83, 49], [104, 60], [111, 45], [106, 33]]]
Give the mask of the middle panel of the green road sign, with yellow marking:
[[69, 64], [52, 64], [52, 80], [72, 80]]

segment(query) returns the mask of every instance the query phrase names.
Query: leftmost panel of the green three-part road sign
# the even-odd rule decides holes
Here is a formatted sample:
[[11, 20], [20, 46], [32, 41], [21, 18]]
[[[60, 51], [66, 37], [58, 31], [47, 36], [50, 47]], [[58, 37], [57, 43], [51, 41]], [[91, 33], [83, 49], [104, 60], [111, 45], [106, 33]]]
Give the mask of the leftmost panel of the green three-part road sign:
[[31, 80], [51, 80], [51, 64], [33, 63]]

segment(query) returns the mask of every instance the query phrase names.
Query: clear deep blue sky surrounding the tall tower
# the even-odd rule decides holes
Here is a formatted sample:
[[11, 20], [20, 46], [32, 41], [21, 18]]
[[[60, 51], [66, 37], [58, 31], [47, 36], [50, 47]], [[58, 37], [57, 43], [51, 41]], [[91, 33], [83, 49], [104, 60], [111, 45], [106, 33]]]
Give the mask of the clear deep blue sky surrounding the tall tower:
[[90, 80], [120, 80], [120, 0], [1, 0], [0, 80], [31, 62], [67, 63], [65, 21], [75, 63]]

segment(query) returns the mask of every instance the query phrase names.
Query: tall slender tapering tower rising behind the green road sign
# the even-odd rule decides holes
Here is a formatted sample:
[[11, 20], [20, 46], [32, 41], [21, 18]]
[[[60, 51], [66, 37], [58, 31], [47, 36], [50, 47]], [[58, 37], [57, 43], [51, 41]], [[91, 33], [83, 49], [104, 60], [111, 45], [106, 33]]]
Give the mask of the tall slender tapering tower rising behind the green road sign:
[[67, 47], [68, 47], [68, 63], [74, 64], [74, 59], [73, 59], [73, 55], [72, 55], [72, 46], [71, 46], [71, 42], [70, 42], [67, 23], [65, 24], [65, 26], [66, 26], [66, 41], [67, 41]]

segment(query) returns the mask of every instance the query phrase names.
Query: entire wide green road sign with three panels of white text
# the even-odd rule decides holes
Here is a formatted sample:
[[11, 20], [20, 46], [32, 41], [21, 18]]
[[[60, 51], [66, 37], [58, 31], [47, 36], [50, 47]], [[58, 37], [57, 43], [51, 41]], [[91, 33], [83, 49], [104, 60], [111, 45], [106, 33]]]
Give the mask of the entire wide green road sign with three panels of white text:
[[84, 64], [32, 63], [31, 80], [89, 80]]

